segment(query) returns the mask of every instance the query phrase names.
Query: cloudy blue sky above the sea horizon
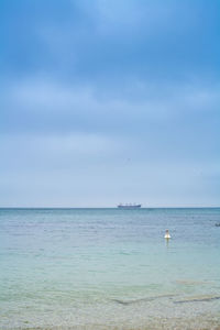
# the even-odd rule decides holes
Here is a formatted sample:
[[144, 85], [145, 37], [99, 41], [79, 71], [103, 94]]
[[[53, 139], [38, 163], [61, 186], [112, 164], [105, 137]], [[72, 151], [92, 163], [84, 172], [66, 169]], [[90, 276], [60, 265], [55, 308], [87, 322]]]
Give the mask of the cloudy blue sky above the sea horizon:
[[0, 207], [220, 206], [219, 0], [1, 0]]

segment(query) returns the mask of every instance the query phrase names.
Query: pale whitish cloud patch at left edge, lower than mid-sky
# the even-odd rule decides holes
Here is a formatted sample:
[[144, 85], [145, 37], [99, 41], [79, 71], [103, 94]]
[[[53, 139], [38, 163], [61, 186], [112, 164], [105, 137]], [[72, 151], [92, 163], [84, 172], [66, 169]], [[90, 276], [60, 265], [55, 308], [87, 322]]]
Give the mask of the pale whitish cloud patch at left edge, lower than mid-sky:
[[[19, 172], [59, 170], [96, 164], [116, 156], [119, 141], [107, 135], [91, 133], [72, 134], [2, 134], [0, 152], [1, 170]], [[86, 162], [86, 163], [85, 163]]]

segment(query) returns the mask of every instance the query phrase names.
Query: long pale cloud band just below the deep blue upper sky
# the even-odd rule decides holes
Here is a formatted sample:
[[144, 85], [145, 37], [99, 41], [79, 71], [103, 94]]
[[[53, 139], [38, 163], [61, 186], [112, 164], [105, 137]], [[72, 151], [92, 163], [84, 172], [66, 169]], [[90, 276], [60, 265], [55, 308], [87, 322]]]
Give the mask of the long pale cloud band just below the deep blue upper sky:
[[[178, 85], [168, 81], [152, 82], [141, 79], [127, 81], [118, 90], [114, 86], [109, 89], [96, 84], [61, 84], [46, 77], [28, 77], [23, 80], [10, 81], [2, 86], [3, 106], [12, 110], [38, 113], [87, 112], [102, 113], [133, 112], [151, 117], [156, 112], [180, 113], [190, 111], [212, 111], [219, 102], [220, 85], [218, 81], [206, 84], [193, 79]], [[178, 107], [177, 107], [178, 105]], [[4, 109], [3, 109], [4, 110]], [[133, 110], [133, 111], [132, 111]], [[135, 110], [135, 111], [134, 111]], [[157, 110], [157, 111], [156, 111]]]

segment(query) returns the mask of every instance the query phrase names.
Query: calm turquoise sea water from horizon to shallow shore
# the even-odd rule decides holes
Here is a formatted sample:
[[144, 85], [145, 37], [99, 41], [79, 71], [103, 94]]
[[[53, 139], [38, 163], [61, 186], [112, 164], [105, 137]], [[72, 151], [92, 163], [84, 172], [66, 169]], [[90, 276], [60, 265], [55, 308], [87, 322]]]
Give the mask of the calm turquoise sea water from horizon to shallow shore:
[[0, 209], [0, 329], [218, 329], [217, 222], [219, 208]]

